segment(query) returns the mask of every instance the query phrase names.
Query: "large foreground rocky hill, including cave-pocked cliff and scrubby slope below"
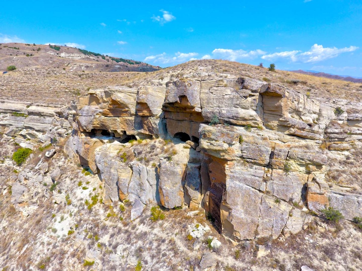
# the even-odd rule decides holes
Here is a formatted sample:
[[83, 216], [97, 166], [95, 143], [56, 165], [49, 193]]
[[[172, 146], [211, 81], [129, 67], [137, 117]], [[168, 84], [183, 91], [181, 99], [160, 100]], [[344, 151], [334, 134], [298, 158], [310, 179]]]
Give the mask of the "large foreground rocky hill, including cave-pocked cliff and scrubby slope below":
[[359, 85], [215, 60], [129, 75], [63, 105], [1, 94], [0, 267], [360, 269]]

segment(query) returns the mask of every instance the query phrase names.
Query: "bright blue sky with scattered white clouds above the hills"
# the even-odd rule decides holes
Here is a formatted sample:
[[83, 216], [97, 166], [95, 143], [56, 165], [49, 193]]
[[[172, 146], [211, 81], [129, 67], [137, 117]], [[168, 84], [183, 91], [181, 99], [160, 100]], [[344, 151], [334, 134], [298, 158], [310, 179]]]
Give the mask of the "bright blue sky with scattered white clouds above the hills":
[[[67, 44], [162, 67], [228, 59], [362, 77], [362, 1], [2, 1], [0, 42]], [[36, 10], [36, 11], [34, 11]]]

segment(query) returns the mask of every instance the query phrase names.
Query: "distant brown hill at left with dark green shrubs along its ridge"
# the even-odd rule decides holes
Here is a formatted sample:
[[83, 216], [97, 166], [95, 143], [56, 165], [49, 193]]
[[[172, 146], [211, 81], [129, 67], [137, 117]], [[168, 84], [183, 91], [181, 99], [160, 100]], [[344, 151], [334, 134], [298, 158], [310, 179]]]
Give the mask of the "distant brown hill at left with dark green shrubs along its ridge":
[[61, 45], [2, 43], [0, 70], [5, 71], [10, 65], [18, 69], [55, 68], [71, 72], [151, 72], [159, 69], [141, 61]]

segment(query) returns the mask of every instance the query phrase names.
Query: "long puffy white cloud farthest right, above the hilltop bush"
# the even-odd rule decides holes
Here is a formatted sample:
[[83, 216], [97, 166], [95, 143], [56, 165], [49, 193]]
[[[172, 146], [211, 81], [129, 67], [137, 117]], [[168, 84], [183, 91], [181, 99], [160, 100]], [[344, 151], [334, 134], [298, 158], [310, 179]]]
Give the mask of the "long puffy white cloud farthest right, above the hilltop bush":
[[316, 63], [326, 59], [331, 59], [337, 57], [341, 53], [353, 52], [357, 50], [358, 47], [350, 46], [344, 48], [336, 47], [323, 47], [323, 45], [314, 44], [310, 50], [306, 52], [301, 51], [285, 51], [271, 53], [269, 55], [264, 55], [261, 58], [265, 60], [274, 60], [279, 58], [290, 59], [292, 62], [301, 61], [303, 63]]

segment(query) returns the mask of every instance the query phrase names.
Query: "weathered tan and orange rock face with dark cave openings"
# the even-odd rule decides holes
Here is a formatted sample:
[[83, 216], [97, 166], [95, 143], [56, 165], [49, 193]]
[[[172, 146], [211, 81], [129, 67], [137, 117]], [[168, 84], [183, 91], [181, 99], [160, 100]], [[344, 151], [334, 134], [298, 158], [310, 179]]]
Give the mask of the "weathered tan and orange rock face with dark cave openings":
[[[361, 183], [330, 174], [361, 152], [361, 114], [336, 116], [292, 89], [243, 77], [109, 87], [76, 107], [67, 149], [100, 174], [104, 202], [129, 199], [134, 217], [147, 204], [203, 207], [239, 242], [295, 234], [309, 211], [328, 206], [362, 216]], [[173, 138], [174, 149], [157, 137]], [[127, 143], [145, 138], [150, 145]]]

